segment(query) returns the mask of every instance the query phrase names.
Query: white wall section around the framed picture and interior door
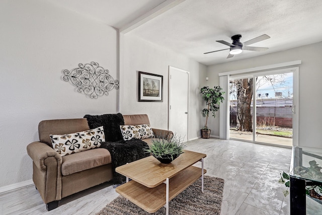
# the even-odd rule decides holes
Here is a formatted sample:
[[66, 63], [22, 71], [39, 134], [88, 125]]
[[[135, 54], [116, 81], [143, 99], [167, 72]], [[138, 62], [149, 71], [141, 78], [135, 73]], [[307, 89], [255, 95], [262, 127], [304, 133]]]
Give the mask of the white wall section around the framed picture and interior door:
[[[120, 106], [122, 114], [148, 114], [151, 126], [168, 129], [169, 65], [190, 72], [189, 139], [200, 136], [200, 81], [206, 66], [181, 54], [151, 44], [131, 33], [121, 37]], [[123, 42], [122, 42], [123, 41]], [[138, 71], [162, 75], [163, 102], [138, 102]]]

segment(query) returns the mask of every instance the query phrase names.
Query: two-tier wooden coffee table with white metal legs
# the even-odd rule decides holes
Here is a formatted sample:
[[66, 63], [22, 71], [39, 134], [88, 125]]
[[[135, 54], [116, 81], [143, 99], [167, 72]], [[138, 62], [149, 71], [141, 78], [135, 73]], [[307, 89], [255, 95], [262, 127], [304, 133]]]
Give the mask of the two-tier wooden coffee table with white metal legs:
[[[116, 192], [149, 213], [166, 206], [169, 201], [201, 178], [203, 192], [203, 169], [205, 154], [185, 150], [170, 164], [162, 164], [150, 156], [116, 168], [126, 176], [127, 183], [116, 188]], [[201, 162], [201, 168], [192, 166]], [[129, 181], [128, 179], [132, 179]]]

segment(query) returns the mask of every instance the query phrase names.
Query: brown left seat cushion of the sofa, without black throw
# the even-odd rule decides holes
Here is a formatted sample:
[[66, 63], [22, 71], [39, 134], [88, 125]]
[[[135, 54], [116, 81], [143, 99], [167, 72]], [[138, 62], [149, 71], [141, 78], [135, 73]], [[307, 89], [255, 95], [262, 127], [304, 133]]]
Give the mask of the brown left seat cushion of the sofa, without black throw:
[[76, 172], [110, 164], [111, 154], [106, 149], [93, 149], [62, 157], [61, 174], [71, 175]]

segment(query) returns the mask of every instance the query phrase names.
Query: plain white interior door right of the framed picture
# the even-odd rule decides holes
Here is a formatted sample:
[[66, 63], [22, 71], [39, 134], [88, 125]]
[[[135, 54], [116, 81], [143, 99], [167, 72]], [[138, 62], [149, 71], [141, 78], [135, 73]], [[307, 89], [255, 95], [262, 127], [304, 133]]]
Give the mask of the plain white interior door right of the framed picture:
[[188, 140], [189, 72], [169, 66], [169, 130]]

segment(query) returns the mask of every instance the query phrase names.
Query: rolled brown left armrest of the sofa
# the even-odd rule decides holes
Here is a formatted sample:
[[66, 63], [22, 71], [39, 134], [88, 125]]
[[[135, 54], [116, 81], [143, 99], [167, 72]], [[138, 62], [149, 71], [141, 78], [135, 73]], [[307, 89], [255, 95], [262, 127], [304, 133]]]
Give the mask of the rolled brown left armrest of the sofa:
[[45, 159], [49, 157], [54, 157], [58, 163], [58, 166], [62, 164], [62, 158], [54, 149], [50, 148], [48, 145], [43, 142], [32, 142], [27, 146], [27, 153], [36, 165], [36, 167], [42, 171], [47, 170], [45, 165]]

